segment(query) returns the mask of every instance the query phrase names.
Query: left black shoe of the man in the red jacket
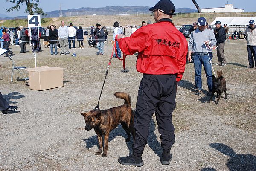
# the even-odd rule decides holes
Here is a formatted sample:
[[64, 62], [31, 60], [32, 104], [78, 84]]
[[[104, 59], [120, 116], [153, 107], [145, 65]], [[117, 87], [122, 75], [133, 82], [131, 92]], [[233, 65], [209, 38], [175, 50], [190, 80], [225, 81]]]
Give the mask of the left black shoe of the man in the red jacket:
[[127, 157], [119, 157], [118, 162], [122, 165], [134, 165], [137, 167], [144, 165], [142, 158], [134, 156], [133, 154], [131, 154], [131, 156], [127, 156]]

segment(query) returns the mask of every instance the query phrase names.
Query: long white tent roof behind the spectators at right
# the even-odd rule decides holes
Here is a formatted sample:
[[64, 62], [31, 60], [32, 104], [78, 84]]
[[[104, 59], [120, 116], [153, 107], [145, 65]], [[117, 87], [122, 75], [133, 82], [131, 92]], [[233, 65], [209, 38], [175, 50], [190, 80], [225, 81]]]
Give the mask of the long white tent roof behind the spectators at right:
[[248, 26], [250, 20], [256, 21], [256, 17], [217, 17], [211, 25], [215, 25], [216, 21], [220, 21], [223, 26], [224, 24], [227, 24], [228, 26]]

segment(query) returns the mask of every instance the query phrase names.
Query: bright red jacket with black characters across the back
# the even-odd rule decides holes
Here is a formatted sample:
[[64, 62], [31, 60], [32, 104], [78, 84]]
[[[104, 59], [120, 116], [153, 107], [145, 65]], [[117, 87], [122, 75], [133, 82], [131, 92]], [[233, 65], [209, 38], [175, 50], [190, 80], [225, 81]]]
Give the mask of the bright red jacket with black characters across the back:
[[180, 81], [185, 71], [188, 43], [170, 19], [161, 19], [118, 40], [127, 55], [138, 53], [138, 72], [152, 75], [176, 74]]

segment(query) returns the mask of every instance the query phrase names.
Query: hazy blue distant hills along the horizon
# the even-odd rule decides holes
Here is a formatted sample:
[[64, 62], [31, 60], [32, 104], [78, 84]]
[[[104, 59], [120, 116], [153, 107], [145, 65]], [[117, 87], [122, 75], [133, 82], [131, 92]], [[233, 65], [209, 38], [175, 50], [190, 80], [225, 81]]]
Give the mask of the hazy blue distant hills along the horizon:
[[[149, 6], [105, 6], [102, 8], [90, 8], [90, 7], [82, 7], [79, 9], [67, 9], [62, 10], [63, 16], [65, 16], [66, 12], [86, 12], [86, 11], [93, 11], [93, 12], [149, 12], [148, 9]], [[181, 12], [181, 13], [191, 13], [191, 12], [197, 12], [195, 9], [190, 8], [178, 8], [175, 9], [175, 12]], [[59, 17], [59, 10], [46, 12], [47, 15], [41, 16], [42, 18], [53, 18], [53, 17]], [[27, 18], [26, 15], [24, 16], [17, 16], [17, 17], [8, 17], [7, 15], [0, 14], [0, 20], [9, 20], [14, 18]]]

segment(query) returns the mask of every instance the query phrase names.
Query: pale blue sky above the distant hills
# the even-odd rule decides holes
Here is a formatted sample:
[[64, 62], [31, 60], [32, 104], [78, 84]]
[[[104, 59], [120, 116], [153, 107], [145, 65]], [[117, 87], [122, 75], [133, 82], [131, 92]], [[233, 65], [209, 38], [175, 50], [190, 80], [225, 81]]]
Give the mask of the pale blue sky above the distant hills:
[[[244, 9], [245, 12], [255, 12], [255, 0], [228, 0], [228, 3], [233, 3], [235, 8]], [[19, 15], [27, 15], [24, 13], [26, 3], [23, 3], [19, 11], [6, 12], [5, 9], [13, 6], [14, 3], [5, 2], [0, 0], [1, 14], [9, 17], [16, 17]], [[60, 3], [62, 9], [81, 8], [81, 7], [105, 7], [105, 6], [154, 6], [158, 0], [40, 0], [39, 6], [44, 12], [59, 10]], [[172, 0], [175, 8], [192, 8], [195, 9], [192, 0]], [[221, 7], [225, 6], [227, 0], [196, 0], [201, 8]], [[4, 4], [4, 5], [3, 5]]]

